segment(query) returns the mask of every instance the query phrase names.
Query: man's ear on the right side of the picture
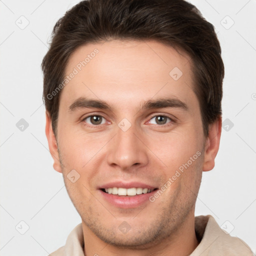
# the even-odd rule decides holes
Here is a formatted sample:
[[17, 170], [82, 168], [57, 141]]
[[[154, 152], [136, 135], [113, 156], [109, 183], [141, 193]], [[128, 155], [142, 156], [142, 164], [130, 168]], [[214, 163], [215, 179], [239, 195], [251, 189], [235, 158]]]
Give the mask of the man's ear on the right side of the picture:
[[206, 138], [204, 146], [203, 171], [211, 170], [215, 165], [214, 160], [219, 147], [221, 124], [222, 118], [220, 116], [214, 123], [209, 125], [208, 137]]

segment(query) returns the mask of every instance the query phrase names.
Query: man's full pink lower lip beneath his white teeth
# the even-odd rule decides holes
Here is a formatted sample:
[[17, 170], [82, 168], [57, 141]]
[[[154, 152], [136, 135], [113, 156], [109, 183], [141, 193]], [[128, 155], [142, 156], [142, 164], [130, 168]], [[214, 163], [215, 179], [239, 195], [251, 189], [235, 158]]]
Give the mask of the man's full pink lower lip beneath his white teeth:
[[143, 203], [146, 203], [149, 201], [149, 197], [152, 196], [155, 192], [157, 192], [158, 189], [155, 189], [151, 191], [150, 193], [146, 194], [137, 194], [133, 196], [125, 196], [125, 195], [114, 195], [114, 194], [108, 194], [103, 192], [99, 189], [99, 192], [103, 196], [105, 200], [107, 200], [109, 203], [113, 204], [116, 207], [120, 208], [135, 208]]

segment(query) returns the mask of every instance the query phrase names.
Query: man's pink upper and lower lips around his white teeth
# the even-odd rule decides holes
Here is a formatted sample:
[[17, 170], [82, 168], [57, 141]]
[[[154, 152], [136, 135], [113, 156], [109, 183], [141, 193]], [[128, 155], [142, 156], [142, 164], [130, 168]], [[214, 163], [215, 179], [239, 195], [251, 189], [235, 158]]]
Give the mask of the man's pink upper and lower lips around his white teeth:
[[108, 203], [110, 203], [111, 205], [119, 208], [135, 208], [142, 204], [149, 203], [149, 197], [152, 196], [158, 190], [157, 188], [151, 191], [150, 193], [138, 194], [133, 196], [114, 195], [114, 194], [103, 192], [101, 190], [102, 188], [109, 188], [109, 187], [123, 187], [123, 188], [142, 187], [147, 189], [154, 189], [154, 188], [157, 188], [157, 186], [152, 186], [152, 185], [145, 184], [142, 182], [137, 182], [137, 181], [133, 181], [133, 182], [112, 181], [112, 182], [100, 185], [98, 187], [100, 196], [102, 196], [103, 199]]

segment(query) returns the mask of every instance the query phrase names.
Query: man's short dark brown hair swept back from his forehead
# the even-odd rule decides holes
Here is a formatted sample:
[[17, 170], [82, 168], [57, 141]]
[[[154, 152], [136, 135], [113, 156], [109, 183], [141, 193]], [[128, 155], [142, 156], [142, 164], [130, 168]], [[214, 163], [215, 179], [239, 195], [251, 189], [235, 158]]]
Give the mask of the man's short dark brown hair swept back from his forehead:
[[55, 134], [61, 91], [49, 95], [62, 82], [70, 55], [81, 45], [109, 39], [155, 39], [184, 50], [191, 57], [193, 90], [208, 135], [208, 125], [221, 116], [221, 48], [213, 25], [184, 0], [84, 0], [56, 22], [41, 64], [43, 100]]

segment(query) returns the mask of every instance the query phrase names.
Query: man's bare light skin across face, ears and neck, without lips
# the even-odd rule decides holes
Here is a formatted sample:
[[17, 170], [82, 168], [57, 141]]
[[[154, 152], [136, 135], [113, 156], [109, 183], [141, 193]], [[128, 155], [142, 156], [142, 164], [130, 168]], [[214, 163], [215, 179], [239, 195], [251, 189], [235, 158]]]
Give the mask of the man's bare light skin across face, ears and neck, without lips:
[[[154, 40], [111, 40], [86, 44], [71, 55], [65, 74], [97, 48], [99, 52], [62, 89], [57, 136], [46, 112], [46, 136], [68, 194], [82, 219], [85, 255], [188, 255], [198, 245], [194, 206], [202, 171], [214, 167], [221, 118], [203, 134], [193, 91], [189, 57]], [[182, 71], [174, 80], [169, 72]], [[101, 99], [112, 109], [69, 106], [79, 97]], [[141, 109], [148, 99], [172, 97], [188, 109]], [[104, 117], [93, 124], [89, 114]], [[159, 124], [155, 115], [165, 115]], [[118, 123], [126, 118], [125, 132]], [[94, 125], [94, 126], [93, 126]], [[98, 185], [113, 180], [141, 181], [160, 188], [197, 151], [201, 154], [154, 202], [119, 208], [101, 196]], [[80, 178], [67, 178], [75, 169]], [[122, 233], [118, 226], [131, 227]]]

